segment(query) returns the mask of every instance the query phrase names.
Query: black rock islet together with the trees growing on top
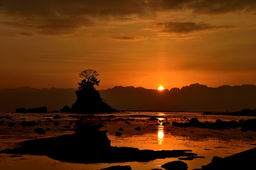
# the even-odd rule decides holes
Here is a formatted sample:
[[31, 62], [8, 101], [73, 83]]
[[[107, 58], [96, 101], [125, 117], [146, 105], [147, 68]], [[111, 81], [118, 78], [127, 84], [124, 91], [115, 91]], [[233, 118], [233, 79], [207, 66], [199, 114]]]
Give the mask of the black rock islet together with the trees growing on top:
[[100, 75], [95, 70], [83, 70], [79, 74], [83, 80], [78, 83], [79, 87], [76, 91], [77, 100], [72, 105], [72, 112], [77, 113], [100, 113], [100, 112], [116, 112], [107, 103], [102, 101], [99, 91], [95, 89], [95, 85], [99, 85], [100, 80], [97, 77]]

